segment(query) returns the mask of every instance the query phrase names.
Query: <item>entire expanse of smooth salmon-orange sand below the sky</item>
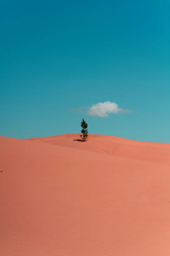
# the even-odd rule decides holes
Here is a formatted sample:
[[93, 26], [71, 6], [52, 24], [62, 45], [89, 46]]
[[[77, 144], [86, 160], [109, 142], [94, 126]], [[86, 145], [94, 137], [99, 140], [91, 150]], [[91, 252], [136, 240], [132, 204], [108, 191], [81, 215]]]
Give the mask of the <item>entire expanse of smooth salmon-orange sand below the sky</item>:
[[0, 255], [169, 256], [170, 145], [73, 137], [0, 137]]

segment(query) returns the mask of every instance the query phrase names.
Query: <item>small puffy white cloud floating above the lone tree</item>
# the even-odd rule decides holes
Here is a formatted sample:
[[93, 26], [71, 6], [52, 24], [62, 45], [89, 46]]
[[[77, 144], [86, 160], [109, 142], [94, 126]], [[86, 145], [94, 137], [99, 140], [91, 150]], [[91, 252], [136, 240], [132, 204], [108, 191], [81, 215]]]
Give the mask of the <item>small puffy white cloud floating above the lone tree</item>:
[[93, 104], [92, 107], [90, 107], [90, 109], [87, 111], [87, 114], [91, 116], [108, 117], [108, 114], [110, 113], [118, 114], [130, 112], [133, 111], [128, 109], [121, 109], [115, 102], [105, 101]]

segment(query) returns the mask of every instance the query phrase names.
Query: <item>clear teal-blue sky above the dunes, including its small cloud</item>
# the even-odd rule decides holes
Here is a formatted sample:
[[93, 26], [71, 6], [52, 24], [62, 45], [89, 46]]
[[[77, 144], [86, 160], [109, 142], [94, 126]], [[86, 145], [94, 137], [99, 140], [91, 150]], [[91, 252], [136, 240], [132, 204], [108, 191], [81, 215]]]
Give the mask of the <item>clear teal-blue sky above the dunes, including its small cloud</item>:
[[168, 0], [0, 0], [0, 135], [170, 143]]

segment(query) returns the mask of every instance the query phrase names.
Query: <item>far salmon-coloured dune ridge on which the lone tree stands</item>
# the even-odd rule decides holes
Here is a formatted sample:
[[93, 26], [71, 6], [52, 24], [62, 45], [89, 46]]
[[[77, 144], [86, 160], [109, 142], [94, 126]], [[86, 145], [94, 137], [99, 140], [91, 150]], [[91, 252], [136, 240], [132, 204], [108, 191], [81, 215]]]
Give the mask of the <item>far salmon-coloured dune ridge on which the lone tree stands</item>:
[[90, 134], [85, 143], [79, 139], [79, 134], [64, 134], [28, 140], [170, 165], [169, 143], [140, 142], [97, 134]]

